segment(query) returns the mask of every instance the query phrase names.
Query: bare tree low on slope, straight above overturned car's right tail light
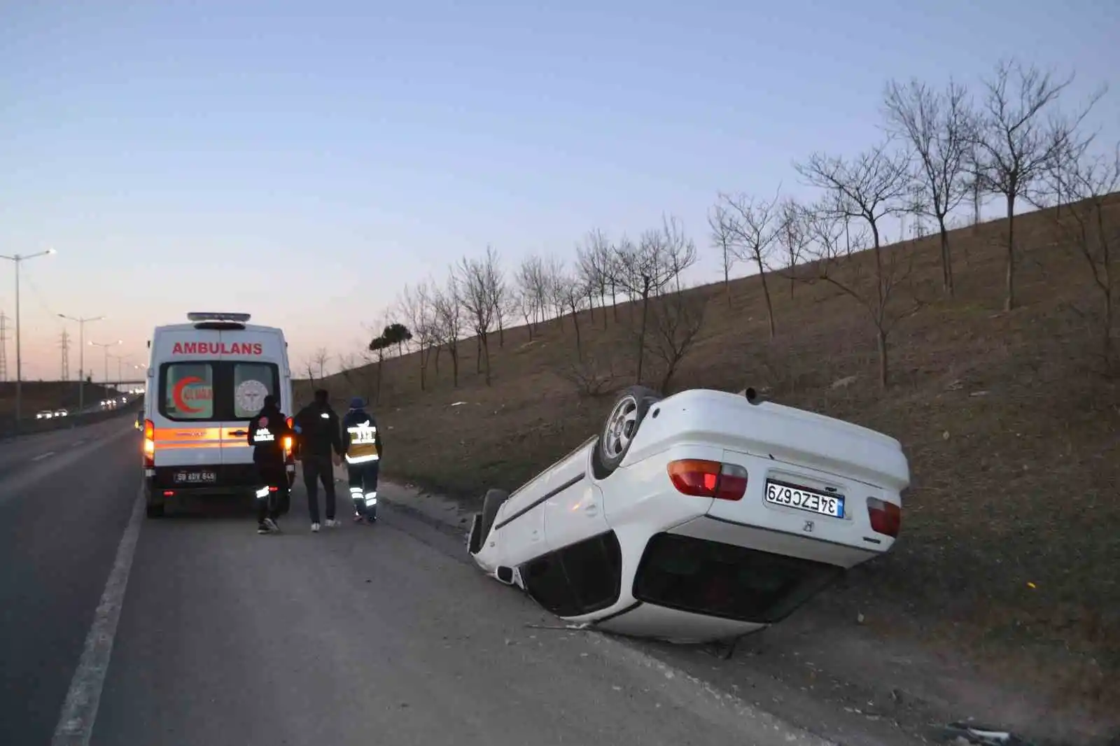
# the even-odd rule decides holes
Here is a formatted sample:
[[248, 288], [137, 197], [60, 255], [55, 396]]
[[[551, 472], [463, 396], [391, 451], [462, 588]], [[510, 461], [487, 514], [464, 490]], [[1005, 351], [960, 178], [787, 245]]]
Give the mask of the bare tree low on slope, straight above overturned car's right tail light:
[[[895, 246], [890, 251], [883, 250], [879, 221], [907, 207], [906, 197], [909, 194], [907, 160], [897, 152], [888, 151], [886, 144], [880, 144], [851, 161], [814, 155], [806, 164], [800, 164], [796, 168], [810, 184], [827, 193], [824, 201], [814, 211], [813, 221], [813, 239], [818, 244], [818, 276], [857, 299], [870, 314], [875, 323], [879, 351], [879, 384], [886, 388], [887, 336], [899, 318], [893, 316], [894, 306], [890, 301], [898, 287], [908, 280], [913, 257], [912, 252], [903, 246]], [[864, 240], [862, 234], [852, 240], [850, 232], [852, 221], [866, 223], [870, 234], [868, 240]], [[843, 229], [843, 244], [832, 239], [832, 230], [836, 226]], [[868, 283], [861, 282], [862, 278], [842, 279], [843, 276], [837, 267], [838, 262], [843, 259], [851, 260], [856, 251], [864, 249], [871, 249], [874, 252], [875, 269], [870, 282], [872, 287], [869, 289], [864, 287]], [[899, 254], [904, 252], [908, 261], [899, 260]], [[848, 261], [847, 264], [856, 273], [862, 268], [862, 262], [859, 260]], [[915, 307], [905, 311], [903, 316], [916, 310], [915, 304]]]

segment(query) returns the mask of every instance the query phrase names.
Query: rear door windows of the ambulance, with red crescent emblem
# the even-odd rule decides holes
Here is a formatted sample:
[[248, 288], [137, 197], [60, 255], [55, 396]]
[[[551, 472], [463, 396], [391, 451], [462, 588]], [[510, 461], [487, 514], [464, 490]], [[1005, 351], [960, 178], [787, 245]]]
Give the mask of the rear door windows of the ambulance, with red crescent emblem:
[[249, 361], [164, 363], [159, 369], [159, 413], [169, 420], [248, 420], [277, 395], [280, 369]]

